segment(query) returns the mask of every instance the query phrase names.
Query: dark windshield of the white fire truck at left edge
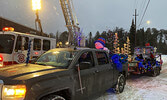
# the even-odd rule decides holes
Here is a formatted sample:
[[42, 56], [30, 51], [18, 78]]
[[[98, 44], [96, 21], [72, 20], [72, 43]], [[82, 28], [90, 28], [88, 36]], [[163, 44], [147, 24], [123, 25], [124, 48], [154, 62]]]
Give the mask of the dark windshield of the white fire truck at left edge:
[[0, 34], [0, 53], [11, 54], [14, 46], [14, 35]]

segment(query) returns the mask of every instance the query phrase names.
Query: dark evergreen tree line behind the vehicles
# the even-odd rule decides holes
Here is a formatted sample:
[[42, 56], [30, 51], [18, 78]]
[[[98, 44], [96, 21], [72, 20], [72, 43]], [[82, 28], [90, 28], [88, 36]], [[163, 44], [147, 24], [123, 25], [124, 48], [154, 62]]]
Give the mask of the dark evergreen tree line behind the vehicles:
[[[145, 46], [146, 43], [149, 43], [151, 46], [157, 48], [157, 52], [167, 54], [167, 30], [156, 29], [156, 28], [140, 28], [136, 30], [135, 34], [135, 25], [132, 21], [129, 32], [125, 31], [123, 28], [116, 27], [113, 30], [103, 31], [100, 33], [97, 31], [93, 36], [92, 32], [88, 33], [86, 37], [86, 47], [95, 48], [94, 42], [99, 38], [103, 37], [106, 39], [106, 47], [113, 50], [113, 41], [115, 39], [115, 33], [118, 33], [119, 47], [123, 47], [126, 43], [127, 36], [130, 38], [131, 52], [133, 52], [134, 47], [136, 46]], [[135, 36], [136, 35], [136, 36]], [[63, 33], [57, 32], [56, 35], [53, 33], [50, 34], [51, 37], [56, 38], [57, 43], [62, 42], [63, 45], [68, 40], [68, 32]], [[135, 41], [136, 37], [136, 41]]]

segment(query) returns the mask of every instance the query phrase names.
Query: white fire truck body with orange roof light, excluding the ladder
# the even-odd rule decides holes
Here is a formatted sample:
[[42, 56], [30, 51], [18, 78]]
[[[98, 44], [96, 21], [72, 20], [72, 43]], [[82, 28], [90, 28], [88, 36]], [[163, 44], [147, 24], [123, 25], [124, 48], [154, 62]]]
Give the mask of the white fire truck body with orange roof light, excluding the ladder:
[[0, 32], [0, 67], [24, 63], [30, 40], [32, 40], [30, 60], [37, 58], [50, 49], [56, 48], [56, 39], [14, 32], [11, 27], [6, 27], [3, 30]]

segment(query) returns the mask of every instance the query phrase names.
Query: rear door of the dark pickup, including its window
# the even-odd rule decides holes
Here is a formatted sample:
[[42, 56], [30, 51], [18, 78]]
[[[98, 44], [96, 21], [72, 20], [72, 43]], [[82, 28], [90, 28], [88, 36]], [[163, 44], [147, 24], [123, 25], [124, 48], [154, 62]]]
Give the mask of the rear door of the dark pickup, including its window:
[[106, 52], [95, 52], [97, 60], [96, 71], [96, 91], [104, 92], [113, 86], [113, 66], [109, 62]]

